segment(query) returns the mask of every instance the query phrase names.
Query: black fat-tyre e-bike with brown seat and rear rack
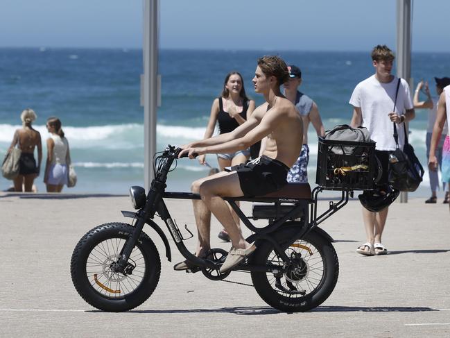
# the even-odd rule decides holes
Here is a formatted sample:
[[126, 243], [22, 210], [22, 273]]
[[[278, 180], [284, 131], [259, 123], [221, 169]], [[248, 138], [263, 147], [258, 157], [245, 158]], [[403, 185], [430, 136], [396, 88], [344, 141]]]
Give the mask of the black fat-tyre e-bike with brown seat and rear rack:
[[[131, 310], [144, 303], [157, 287], [161, 271], [157, 248], [143, 231], [145, 224], [161, 237], [167, 259], [171, 261], [172, 257], [166, 235], [153, 220], [159, 217], [180, 253], [195, 266], [187, 272], [201, 271], [209, 280], [223, 280], [232, 271], [250, 271], [259, 296], [281, 311], [302, 312], [323, 303], [336, 285], [339, 263], [333, 239], [318, 225], [343, 208], [352, 189], [336, 185], [342, 190], [340, 201], [330, 201], [328, 210], [320, 215], [318, 193], [326, 189], [326, 184], [313, 192], [308, 183], [290, 183], [266, 196], [225, 197], [252, 231], [246, 240], [255, 243], [257, 250], [232, 270], [220, 273], [227, 251], [211, 248], [204, 258], [189, 252], [184, 240], [192, 234], [186, 226], [191, 237], [182, 235], [164, 203], [165, 198], [200, 199], [198, 194], [166, 192], [168, 173], [180, 151], [168, 146], [156, 154], [155, 178], [148, 194], [142, 187], [130, 188], [137, 212], [122, 214], [133, 219], [131, 224], [105, 223], [80, 239], [71, 257], [71, 278], [78, 294], [93, 307], [110, 312]], [[245, 216], [236, 201], [253, 202], [252, 215]], [[257, 219], [267, 221], [267, 225], [255, 226], [250, 221]]]

